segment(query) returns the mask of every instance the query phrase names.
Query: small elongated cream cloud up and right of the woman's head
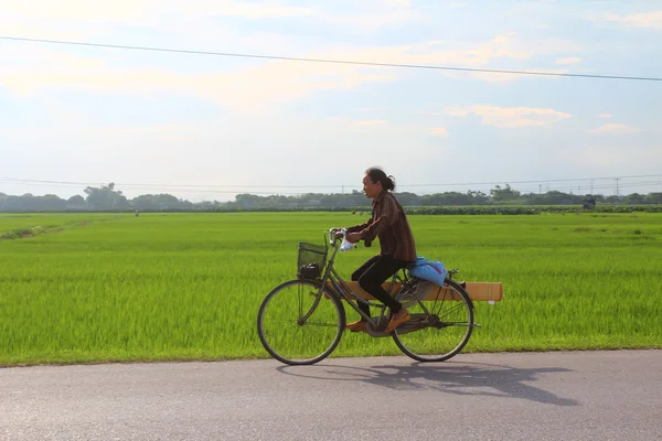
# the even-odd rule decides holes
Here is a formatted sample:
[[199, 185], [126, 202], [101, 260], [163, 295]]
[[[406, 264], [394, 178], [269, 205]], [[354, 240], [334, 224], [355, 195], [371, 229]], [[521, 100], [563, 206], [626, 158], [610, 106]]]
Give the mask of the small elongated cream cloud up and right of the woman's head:
[[447, 108], [447, 114], [453, 116], [467, 116], [470, 112], [482, 117], [482, 122], [484, 125], [499, 128], [547, 127], [572, 117], [570, 114], [563, 111], [532, 107], [477, 105], [467, 108]]

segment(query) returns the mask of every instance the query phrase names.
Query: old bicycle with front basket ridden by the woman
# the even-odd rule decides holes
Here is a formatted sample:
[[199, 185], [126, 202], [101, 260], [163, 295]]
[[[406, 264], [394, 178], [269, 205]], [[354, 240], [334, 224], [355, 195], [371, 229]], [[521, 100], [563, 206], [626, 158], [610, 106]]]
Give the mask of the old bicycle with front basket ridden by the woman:
[[[337, 237], [337, 232], [341, 232], [342, 237]], [[274, 288], [257, 314], [257, 332], [265, 349], [288, 365], [312, 365], [324, 359], [335, 349], [345, 329], [344, 300], [367, 320], [369, 335], [393, 337], [397, 347], [410, 358], [444, 362], [460, 353], [473, 327], [480, 325], [473, 322], [473, 303], [465, 290], [466, 284], [452, 280], [459, 271], [448, 271], [442, 287], [410, 277], [405, 269], [394, 273], [387, 291], [409, 310], [412, 320], [387, 334], [384, 332], [389, 320], [387, 306], [371, 302], [372, 297], [361, 292], [357, 282], [345, 282], [333, 267], [339, 244], [345, 234], [343, 229], [331, 228], [324, 232], [324, 246], [299, 243], [297, 279]], [[329, 245], [332, 247], [330, 257]], [[359, 308], [359, 302], [377, 309], [378, 315], [367, 316]], [[446, 303], [450, 303], [451, 308], [441, 313]], [[285, 316], [286, 313], [291, 316]], [[456, 315], [451, 316], [453, 313], [458, 320], [455, 320]], [[466, 320], [459, 320], [462, 318]], [[277, 319], [276, 324], [273, 325], [269, 319]], [[456, 327], [460, 331], [453, 332]], [[445, 341], [448, 343], [445, 344]]]

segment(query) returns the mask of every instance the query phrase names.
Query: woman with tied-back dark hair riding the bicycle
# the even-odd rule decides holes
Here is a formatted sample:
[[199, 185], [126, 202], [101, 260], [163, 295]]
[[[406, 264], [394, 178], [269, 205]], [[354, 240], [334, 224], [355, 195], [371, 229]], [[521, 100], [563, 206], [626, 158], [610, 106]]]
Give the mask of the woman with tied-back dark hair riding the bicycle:
[[[372, 198], [372, 217], [361, 225], [348, 228], [346, 239], [352, 244], [359, 240], [372, 243], [380, 238], [381, 252], [367, 260], [352, 275], [353, 281], [375, 299], [391, 309], [392, 316], [385, 332], [391, 333], [402, 323], [410, 319], [409, 312], [392, 298], [382, 283], [402, 268], [416, 261], [414, 236], [407, 222], [407, 216], [393, 193], [395, 182], [393, 176], [386, 176], [383, 170], [371, 168], [363, 176], [363, 192]], [[370, 306], [360, 303], [361, 310], [370, 316]], [[365, 331], [367, 322], [363, 318], [349, 323], [352, 332]]]

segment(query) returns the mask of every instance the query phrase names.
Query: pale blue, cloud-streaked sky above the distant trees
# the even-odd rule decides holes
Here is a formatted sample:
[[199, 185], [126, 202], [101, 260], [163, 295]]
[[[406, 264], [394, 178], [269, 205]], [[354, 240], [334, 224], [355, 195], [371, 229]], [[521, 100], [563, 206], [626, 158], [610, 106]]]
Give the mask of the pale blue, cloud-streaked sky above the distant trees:
[[[0, 0], [0, 36], [662, 77], [662, 0]], [[0, 192], [662, 191], [662, 82], [0, 39]], [[617, 181], [616, 178], [619, 178]], [[592, 180], [592, 181], [591, 181]], [[591, 187], [592, 185], [592, 187]]]

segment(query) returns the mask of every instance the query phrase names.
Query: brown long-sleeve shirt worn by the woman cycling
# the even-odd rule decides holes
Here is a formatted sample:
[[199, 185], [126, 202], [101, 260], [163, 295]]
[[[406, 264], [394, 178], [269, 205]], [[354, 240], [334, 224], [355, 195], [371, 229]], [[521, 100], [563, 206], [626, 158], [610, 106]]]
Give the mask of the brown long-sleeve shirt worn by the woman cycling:
[[348, 228], [348, 233], [361, 233], [364, 240], [380, 238], [382, 255], [409, 262], [416, 261], [414, 235], [405, 211], [395, 196], [383, 191], [373, 200], [372, 217], [365, 223]]

